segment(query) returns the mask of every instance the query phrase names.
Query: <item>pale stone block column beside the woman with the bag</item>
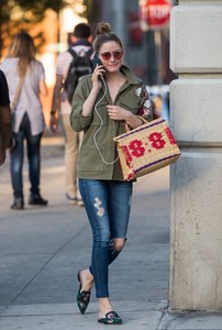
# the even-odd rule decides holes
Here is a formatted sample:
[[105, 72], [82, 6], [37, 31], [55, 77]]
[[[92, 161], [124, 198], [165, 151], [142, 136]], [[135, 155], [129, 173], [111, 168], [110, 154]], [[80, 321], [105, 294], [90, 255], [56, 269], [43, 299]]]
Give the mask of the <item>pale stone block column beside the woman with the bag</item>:
[[170, 18], [169, 308], [222, 308], [222, 1], [179, 0]]

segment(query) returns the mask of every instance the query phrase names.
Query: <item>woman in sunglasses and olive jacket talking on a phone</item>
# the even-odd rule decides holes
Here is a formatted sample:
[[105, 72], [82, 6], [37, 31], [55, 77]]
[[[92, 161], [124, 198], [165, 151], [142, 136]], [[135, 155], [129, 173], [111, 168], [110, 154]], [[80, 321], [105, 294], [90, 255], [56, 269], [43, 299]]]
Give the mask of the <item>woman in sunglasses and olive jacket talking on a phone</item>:
[[123, 180], [113, 138], [125, 132], [125, 124], [142, 125], [137, 113], [148, 120], [152, 113], [145, 85], [123, 64], [120, 37], [108, 23], [99, 23], [96, 33], [95, 61], [100, 64], [79, 81], [70, 114], [73, 129], [85, 132], [78, 177], [93, 240], [91, 265], [78, 273], [77, 304], [85, 314], [95, 283], [98, 322], [121, 324], [109, 299], [108, 268], [126, 241], [133, 183]]

